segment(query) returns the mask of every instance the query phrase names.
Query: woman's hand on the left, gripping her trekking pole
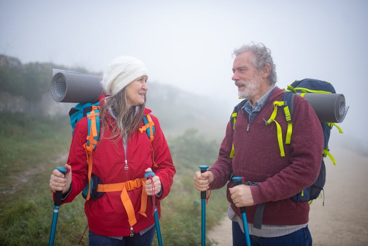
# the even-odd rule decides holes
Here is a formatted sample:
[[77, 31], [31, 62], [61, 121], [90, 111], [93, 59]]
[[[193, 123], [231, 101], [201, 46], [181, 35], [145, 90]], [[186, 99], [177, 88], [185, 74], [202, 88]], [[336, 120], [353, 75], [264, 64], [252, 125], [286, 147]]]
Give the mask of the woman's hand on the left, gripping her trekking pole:
[[50, 189], [51, 191], [62, 191], [63, 194], [70, 190], [72, 184], [72, 167], [65, 164], [64, 167], [69, 171], [65, 175], [57, 169], [53, 170], [53, 174], [50, 176]]

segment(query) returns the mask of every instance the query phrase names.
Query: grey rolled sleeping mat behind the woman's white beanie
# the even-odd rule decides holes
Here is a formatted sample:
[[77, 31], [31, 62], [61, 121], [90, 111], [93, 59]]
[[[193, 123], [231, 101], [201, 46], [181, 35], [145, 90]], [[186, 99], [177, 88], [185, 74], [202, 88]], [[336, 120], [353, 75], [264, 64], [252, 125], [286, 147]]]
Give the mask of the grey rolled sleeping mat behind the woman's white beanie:
[[95, 103], [104, 94], [101, 80], [95, 75], [53, 69], [51, 96], [59, 103]]

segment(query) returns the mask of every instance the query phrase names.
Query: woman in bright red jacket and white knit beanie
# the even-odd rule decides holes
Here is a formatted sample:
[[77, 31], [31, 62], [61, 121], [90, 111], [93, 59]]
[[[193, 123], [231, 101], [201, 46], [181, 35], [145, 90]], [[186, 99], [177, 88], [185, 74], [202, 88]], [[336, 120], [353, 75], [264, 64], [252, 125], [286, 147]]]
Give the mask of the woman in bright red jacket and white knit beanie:
[[[156, 196], [160, 215], [159, 200], [170, 191], [175, 167], [158, 119], [145, 108], [147, 79], [140, 60], [130, 56], [114, 59], [102, 80], [107, 95], [100, 98], [101, 134], [93, 165], [87, 164], [83, 147], [88, 135], [84, 117], [73, 133], [65, 164], [69, 172], [64, 175], [55, 169], [51, 175], [50, 188], [62, 191], [62, 204], [71, 202], [90, 184], [91, 177], [98, 182], [98, 194], [89, 191], [84, 206], [89, 245], [152, 244], [156, 228], [147, 196]], [[146, 134], [144, 116], [155, 127], [153, 140]], [[144, 178], [152, 170], [156, 175]]]

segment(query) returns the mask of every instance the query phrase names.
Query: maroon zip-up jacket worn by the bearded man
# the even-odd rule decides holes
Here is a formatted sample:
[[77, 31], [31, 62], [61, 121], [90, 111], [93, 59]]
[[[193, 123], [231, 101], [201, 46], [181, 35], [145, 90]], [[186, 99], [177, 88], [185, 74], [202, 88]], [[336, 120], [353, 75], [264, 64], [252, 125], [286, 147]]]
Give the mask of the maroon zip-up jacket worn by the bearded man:
[[[211, 188], [223, 187], [233, 172], [246, 181], [261, 182], [251, 186], [255, 204], [266, 202], [263, 224], [297, 225], [308, 222], [308, 202], [295, 202], [289, 197], [311, 186], [319, 173], [323, 150], [321, 124], [308, 101], [294, 98], [291, 143], [285, 144], [287, 123], [279, 108], [275, 120], [281, 125], [285, 157], [280, 156], [276, 125], [266, 126], [274, 101], [283, 101], [284, 91], [275, 88], [258, 115], [248, 125], [248, 113], [237, 114], [235, 130], [229, 122], [217, 161], [210, 167], [214, 180]], [[248, 128], [248, 130], [247, 130]], [[234, 141], [235, 156], [229, 158]], [[229, 182], [228, 188], [234, 185]], [[230, 203], [230, 192], [227, 191]], [[239, 209], [231, 204], [241, 218]], [[248, 222], [254, 222], [256, 206], [246, 208]]]

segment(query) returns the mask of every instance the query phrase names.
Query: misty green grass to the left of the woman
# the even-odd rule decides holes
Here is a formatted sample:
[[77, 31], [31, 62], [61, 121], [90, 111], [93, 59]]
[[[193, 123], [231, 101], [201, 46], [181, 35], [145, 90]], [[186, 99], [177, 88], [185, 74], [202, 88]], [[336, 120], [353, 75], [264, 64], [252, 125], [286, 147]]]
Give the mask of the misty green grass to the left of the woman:
[[[53, 216], [48, 181], [55, 166], [62, 165], [54, 160], [68, 151], [68, 118], [1, 113], [0, 122], [0, 245], [47, 245]], [[55, 237], [60, 245], [73, 245], [70, 238], [80, 237], [87, 224], [83, 203], [80, 197], [60, 208], [63, 222]], [[64, 232], [72, 237], [60, 239]]]

